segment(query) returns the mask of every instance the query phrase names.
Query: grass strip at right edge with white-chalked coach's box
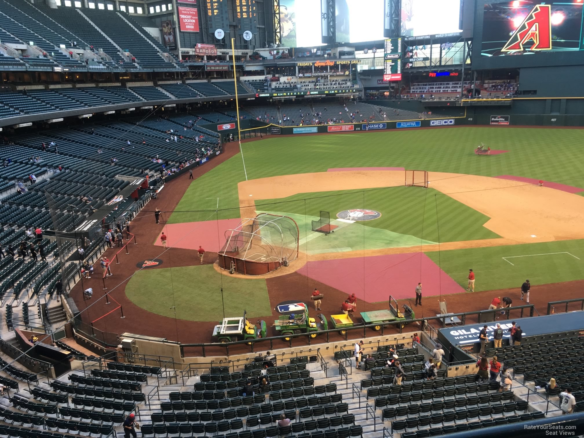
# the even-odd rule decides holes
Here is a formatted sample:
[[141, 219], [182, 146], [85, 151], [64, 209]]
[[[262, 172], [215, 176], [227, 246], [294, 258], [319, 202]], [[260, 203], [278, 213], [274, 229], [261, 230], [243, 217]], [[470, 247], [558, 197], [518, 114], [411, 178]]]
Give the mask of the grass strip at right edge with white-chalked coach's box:
[[[584, 240], [426, 252], [458, 284], [467, 287], [475, 273], [475, 291], [584, 279]], [[505, 257], [505, 259], [503, 259]]]

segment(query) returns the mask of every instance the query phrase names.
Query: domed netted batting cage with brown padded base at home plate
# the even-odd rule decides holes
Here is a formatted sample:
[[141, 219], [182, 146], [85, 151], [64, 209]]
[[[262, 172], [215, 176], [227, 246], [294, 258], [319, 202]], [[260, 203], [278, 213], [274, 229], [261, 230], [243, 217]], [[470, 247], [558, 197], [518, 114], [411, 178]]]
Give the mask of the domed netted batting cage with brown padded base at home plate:
[[262, 275], [298, 258], [298, 225], [287, 216], [262, 213], [242, 219], [233, 230], [225, 231], [225, 244], [219, 251], [219, 267], [231, 273]]

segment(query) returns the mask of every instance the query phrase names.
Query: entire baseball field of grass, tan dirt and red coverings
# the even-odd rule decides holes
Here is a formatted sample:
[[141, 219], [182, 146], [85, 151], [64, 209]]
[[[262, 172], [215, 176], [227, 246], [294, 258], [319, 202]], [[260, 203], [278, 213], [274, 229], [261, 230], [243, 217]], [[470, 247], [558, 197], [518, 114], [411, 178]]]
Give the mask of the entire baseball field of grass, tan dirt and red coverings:
[[[543, 311], [547, 301], [578, 296], [581, 283], [562, 282], [584, 280], [583, 140], [579, 129], [456, 127], [271, 135], [242, 143], [243, 157], [227, 144], [134, 220], [148, 245], [119, 265], [128, 280], [117, 294], [136, 333], [180, 342], [211, 342], [214, 322], [244, 310], [277, 317], [279, 303], [311, 303], [314, 288], [330, 315], [347, 293], [359, 311], [375, 310], [390, 294], [413, 298], [422, 281], [427, 304], [416, 314], [427, 316], [439, 312], [438, 299], [449, 311], [482, 310], [497, 294], [518, 302], [529, 278]], [[505, 152], [475, 155], [481, 142]], [[427, 171], [429, 187], [405, 187], [403, 169]], [[331, 234], [312, 231], [320, 211], [330, 215]], [[221, 272], [217, 251], [228, 230], [261, 213], [293, 218], [298, 257], [266, 277]], [[161, 263], [137, 271], [148, 258]], [[471, 268], [474, 293], [466, 290]]]

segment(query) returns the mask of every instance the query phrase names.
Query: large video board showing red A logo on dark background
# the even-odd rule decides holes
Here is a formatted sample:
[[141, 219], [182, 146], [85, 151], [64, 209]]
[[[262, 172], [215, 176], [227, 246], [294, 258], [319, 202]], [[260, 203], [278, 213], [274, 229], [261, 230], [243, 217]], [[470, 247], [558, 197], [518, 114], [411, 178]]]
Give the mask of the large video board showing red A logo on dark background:
[[582, 50], [582, 0], [513, 0], [484, 6], [481, 55]]

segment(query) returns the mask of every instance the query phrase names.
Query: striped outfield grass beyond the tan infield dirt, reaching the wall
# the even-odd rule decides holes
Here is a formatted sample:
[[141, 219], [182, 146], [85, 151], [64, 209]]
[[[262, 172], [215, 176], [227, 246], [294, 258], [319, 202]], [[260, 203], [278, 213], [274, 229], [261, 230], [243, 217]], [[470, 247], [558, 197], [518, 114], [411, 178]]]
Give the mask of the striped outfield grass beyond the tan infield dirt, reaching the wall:
[[[584, 130], [576, 129], [462, 127], [298, 137], [273, 135], [244, 143], [242, 148], [248, 179], [325, 172], [335, 167], [402, 166], [484, 176], [524, 176], [584, 187], [583, 141]], [[491, 149], [510, 152], [477, 157], [473, 150], [480, 142]], [[296, 178], [290, 176], [290, 184]], [[239, 217], [237, 183], [242, 180], [244, 169], [238, 154], [194, 180], [169, 223], [213, 218], [217, 197], [221, 211], [216, 217]], [[196, 210], [201, 212], [192, 213]], [[460, 230], [465, 230], [470, 223], [464, 221], [459, 225]]]

